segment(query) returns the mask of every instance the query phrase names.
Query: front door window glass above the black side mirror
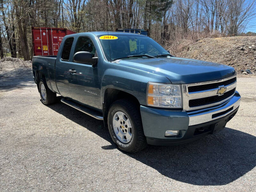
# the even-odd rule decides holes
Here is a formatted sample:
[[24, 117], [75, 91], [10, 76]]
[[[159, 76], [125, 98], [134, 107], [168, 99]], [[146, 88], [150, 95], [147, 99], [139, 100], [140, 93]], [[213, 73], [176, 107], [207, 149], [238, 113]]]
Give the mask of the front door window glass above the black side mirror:
[[96, 49], [94, 47], [94, 44], [92, 43], [92, 40], [89, 37], [79, 37], [76, 43], [76, 49], [74, 54], [79, 51], [87, 51], [92, 53], [92, 55], [95, 54]]

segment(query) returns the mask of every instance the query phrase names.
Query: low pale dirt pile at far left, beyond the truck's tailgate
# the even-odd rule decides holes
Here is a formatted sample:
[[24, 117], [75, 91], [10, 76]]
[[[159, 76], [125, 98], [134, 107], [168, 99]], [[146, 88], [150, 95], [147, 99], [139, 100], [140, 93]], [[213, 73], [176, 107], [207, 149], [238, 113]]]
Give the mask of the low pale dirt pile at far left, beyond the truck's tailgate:
[[23, 61], [19, 58], [5, 57], [0, 60], [0, 70], [9, 71], [17, 68], [32, 68], [31, 61]]

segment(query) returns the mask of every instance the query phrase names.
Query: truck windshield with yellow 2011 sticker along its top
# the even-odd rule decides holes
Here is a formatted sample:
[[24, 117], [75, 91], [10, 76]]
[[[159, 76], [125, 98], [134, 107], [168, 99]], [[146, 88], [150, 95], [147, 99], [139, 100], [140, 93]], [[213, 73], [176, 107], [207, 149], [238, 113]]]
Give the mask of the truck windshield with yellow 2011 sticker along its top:
[[161, 45], [156, 43], [148, 36], [109, 34], [99, 35], [97, 37], [100, 40], [100, 44], [108, 61], [113, 61], [119, 58], [126, 58], [132, 55], [157, 56], [162, 54], [169, 54]]

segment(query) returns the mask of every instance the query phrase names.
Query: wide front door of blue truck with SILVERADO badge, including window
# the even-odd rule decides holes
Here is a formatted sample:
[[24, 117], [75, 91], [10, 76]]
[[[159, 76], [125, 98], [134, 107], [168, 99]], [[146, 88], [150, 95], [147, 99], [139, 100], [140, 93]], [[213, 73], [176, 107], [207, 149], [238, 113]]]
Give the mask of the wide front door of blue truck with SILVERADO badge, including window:
[[[97, 50], [88, 36], [80, 36], [76, 41], [74, 54], [80, 51], [90, 52], [97, 57]], [[98, 64], [99, 62], [98, 60]], [[73, 100], [101, 109], [98, 64], [92, 66], [90, 63], [82, 64], [73, 61], [69, 65], [69, 70], [73, 70], [75, 73], [69, 73], [68, 81], [69, 92]]]

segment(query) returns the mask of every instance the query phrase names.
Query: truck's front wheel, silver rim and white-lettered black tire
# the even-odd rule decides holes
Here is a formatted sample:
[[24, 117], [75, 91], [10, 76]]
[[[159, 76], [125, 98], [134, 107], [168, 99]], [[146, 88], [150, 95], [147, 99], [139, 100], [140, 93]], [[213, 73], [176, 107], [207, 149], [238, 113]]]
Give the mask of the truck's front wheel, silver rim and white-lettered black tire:
[[115, 101], [108, 111], [108, 130], [118, 148], [136, 153], [147, 147], [140, 111], [127, 99]]

